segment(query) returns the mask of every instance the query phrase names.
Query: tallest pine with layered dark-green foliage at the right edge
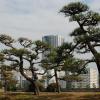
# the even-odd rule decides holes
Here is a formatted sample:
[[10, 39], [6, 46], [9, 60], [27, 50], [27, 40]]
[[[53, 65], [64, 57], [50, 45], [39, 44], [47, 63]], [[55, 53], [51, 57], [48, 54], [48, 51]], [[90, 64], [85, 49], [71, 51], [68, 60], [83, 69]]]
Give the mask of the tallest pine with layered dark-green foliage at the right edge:
[[100, 73], [100, 14], [92, 11], [81, 2], [72, 2], [60, 10], [69, 20], [77, 22], [79, 27], [73, 29], [70, 34], [78, 53], [92, 53], [93, 57], [88, 61], [95, 62]]

